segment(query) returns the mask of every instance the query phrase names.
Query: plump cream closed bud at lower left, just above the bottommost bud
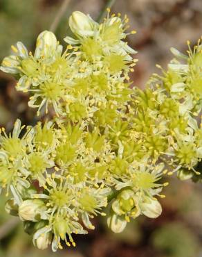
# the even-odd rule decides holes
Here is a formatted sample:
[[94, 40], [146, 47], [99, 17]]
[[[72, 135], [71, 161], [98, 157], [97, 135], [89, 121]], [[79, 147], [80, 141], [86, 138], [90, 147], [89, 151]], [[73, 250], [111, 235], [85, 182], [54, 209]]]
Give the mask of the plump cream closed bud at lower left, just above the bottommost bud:
[[19, 217], [21, 220], [37, 222], [41, 219], [41, 215], [45, 210], [44, 201], [39, 199], [26, 200], [19, 206]]

